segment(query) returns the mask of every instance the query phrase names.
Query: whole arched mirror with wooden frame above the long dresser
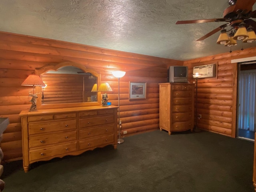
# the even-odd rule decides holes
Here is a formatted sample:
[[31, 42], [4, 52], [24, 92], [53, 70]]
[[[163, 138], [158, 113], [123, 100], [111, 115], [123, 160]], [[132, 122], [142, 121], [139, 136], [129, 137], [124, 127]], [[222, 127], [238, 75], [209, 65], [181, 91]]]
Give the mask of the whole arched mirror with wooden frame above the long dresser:
[[92, 90], [94, 84], [100, 83], [100, 75], [93, 69], [62, 62], [36, 69], [36, 74], [47, 85], [36, 87], [36, 93], [40, 93], [38, 109], [93, 106], [101, 102], [100, 94]]

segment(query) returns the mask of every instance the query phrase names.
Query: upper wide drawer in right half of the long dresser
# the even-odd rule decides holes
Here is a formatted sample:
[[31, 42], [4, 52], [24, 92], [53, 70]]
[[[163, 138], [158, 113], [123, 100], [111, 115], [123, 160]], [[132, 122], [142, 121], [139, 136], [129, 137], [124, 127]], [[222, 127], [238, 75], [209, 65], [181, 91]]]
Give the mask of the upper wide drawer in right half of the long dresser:
[[84, 118], [84, 119], [79, 119], [79, 128], [104, 125], [109, 123], [114, 123], [113, 115], [103, 116], [103, 117]]

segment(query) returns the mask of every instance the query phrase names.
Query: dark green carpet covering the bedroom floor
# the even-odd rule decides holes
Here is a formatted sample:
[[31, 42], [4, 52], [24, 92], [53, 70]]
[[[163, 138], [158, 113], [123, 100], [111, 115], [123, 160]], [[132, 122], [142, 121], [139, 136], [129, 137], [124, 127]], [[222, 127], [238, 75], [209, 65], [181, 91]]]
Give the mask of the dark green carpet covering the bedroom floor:
[[80, 156], [4, 165], [4, 192], [252, 192], [254, 143], [160, 130]]

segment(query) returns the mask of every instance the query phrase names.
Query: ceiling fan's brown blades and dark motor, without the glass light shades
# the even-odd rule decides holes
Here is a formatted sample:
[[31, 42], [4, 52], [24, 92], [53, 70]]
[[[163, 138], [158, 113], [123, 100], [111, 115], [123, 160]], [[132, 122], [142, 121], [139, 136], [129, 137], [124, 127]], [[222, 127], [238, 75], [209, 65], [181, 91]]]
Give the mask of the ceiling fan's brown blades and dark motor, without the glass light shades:
[[[230, 5], [223, 12], [223, 18], [214, 19], [200, 19], [200, 20], [184, 20], [177, 21], [176, 24], [193, 24], [193, 23], [206, 23], [206, 22], [228, 22], [212, 30], [208, 34], [202, 36], [196, 41], [202, 41], [216, 32], [223, 30], [226, 26], [230, 26], [231, 30], [238, 30], [238, 28], [244, 24], [246, 28], [256, 30], [256, 22], [250, 18], [256, 18], [256, 10], [252, 11], [252, 6], [256, 0], [229, 0]], [[253, 28], [252, 28], [253, 27]], [[223, 30], [226, 32], [226, 30]], [[221, 31], [222, 32], [222, 31]], [[234, 31], [232, 32], [234, 34]]]

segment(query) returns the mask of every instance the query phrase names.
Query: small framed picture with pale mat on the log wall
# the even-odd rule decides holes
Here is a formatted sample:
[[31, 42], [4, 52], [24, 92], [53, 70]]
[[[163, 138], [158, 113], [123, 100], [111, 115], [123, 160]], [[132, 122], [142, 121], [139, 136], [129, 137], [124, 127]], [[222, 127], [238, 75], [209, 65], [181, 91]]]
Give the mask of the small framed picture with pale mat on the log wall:
[[146, 99], [146, 82], [129, 82], [129, 99]]

